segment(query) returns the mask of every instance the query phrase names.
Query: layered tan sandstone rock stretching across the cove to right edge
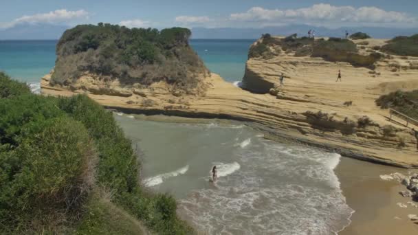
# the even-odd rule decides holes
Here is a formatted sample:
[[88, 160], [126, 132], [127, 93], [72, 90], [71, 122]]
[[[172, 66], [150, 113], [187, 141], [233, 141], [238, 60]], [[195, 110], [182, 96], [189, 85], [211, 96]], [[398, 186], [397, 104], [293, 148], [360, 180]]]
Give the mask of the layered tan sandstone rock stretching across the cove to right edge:
[[[384, 43], [368, 40], [370, 47]], [[404, 65], [414, 60], [418, 61], [393, 56], [390, 61]], [[342, 82], [336, 82], [339, 69]], [[277, 74], [282, 71], [290, 78], [285, 78], [283, 87], [276, 87]], [[253, 75], [254, 83], [248, 83], [248, 74]], [[416, 139], [410, 128], [402, 120], [389, 120], [388, 111], [375, 105], [375, 99], [383, 93], [418, 89], [417, 69], [392, 71], [388, 62], [382, 61], [371, 70], [289, 53], [250, 58], [246, 76], [247, 89], [256, 86], [258, 80], [265, 81], [259, 86], [263, 92], [245, 91], [217, 74], [201, 78], [194, 93], [175, 89], [164, 81], [146, 87], [126, 86], [91, 74], [85, 74], [72, 87], [51, 85], [47, 75], [41, 88], [42, 93], [52, 96], [85, 93], [104, 107], [126, 113], [239, 120], [259, 128], [269, 139], [308, 144], [380, 164], [418, 168]], [[99, 94], [98, 87], [131, 95]]]

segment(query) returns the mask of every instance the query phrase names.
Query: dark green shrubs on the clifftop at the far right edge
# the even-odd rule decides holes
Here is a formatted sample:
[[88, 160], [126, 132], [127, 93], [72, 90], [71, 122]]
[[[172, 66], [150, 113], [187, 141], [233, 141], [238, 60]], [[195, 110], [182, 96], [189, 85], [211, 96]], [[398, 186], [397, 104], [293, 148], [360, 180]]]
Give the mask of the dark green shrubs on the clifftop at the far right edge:
[[398, 56], [418, 56], [418, 34], [397, 36], [382, 47], [382, 51]]

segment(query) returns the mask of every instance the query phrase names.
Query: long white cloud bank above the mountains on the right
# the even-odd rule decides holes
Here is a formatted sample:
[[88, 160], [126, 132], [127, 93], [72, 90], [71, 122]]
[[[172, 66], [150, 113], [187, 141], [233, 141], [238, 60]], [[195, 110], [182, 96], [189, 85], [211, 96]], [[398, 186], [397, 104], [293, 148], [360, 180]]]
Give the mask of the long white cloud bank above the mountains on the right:
[[283, 21], [287, 23], [319, 23], [322, 25], [355, 23], [358, 25], [404, 25], [417, 23], [418, 20], [404, 12], [385, 11], [376, 7], [354, 8], [352, 6], [334, 6], [316, 4], [309, 8], [265, 9], [254, 7], [247, 12], [230, 14], [230, 21], [248, 21], [268, 23]]

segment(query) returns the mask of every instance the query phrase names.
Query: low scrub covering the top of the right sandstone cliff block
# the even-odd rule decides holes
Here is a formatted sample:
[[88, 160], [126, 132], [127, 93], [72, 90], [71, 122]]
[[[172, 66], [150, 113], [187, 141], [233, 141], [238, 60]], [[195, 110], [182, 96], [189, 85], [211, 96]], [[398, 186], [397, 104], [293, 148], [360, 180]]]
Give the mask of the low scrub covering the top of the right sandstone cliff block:
[[348, 39], [329, 38], [328, 40], [302, 37], [292, 34], [286, 38], [273, 38], [265, 34], [255, 45], [252, 45], [248, 54], [249, 58], [271, 58], [279, 47], [285, 52], [295, 52], [295, 56], [320, 57], [328, 61], [347, 62], [353, 66], [373, 68], [382, 55], [373, 52], [369, 55], [358, 54], [355, 43]]

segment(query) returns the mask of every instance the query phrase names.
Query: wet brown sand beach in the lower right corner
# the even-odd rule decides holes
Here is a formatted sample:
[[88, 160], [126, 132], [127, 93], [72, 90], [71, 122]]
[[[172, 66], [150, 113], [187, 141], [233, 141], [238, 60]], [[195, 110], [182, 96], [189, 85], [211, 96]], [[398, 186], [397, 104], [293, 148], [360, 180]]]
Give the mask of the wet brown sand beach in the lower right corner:
[[[408, 214], [418, 214], [418, 208], [407, 203], [412, 201], [409, 197], [399, 194], [406, 188], [395, 180], [380, 179], [380, 175], [394, 172], [407, 175], [408, 171], [418, 172], [342, 157], [336, 175], [347, 203], [355, 212], [352, 223], [339, 234], [418, 234], [418, 225], [408, 219]], [[399, 202], [408, 208], [400, 208]]]

